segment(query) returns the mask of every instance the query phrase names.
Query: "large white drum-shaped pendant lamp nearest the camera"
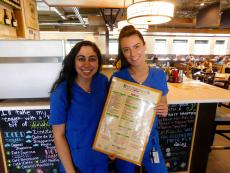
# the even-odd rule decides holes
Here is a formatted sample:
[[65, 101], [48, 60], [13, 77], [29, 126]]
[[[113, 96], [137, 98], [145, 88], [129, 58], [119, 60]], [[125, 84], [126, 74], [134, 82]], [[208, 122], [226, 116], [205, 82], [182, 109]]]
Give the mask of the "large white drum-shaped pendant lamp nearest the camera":
[[174, 15], [174, 0], [149, 0], [136, 2], [127, 8], [127, 20], [132, 24], [161, 24]]

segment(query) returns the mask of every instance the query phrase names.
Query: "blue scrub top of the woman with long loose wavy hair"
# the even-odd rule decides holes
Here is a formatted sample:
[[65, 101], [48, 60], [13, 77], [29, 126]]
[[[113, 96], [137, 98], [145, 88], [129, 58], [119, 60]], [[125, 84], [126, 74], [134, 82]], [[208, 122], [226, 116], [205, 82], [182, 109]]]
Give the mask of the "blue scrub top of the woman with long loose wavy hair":
[[[66, 97], [66, 82], [62, 82], [51, 93], [49, 124], [66, 124], [66, 139], [76, 165], [79, 160], [91, 162], [91, 164], [107, 164], [106, 155], [92, 150], [107, 96], [107, 87], [107, 77], [102, 74], [96, 74], [93, 77], [90, 93], [85, 92], [77, 83], [74, 83], [69, 107]], [[77, 153], [81, 153], [81, 156]]]

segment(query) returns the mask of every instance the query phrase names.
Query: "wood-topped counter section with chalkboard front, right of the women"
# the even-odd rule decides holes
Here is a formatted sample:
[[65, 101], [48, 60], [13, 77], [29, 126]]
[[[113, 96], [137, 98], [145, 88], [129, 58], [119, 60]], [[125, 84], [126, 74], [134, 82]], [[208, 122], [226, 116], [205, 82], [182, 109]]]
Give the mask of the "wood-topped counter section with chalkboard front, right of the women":
[[[166, 161], [167, 159], [172, 159], [175, 163], [181, 161], [176, 166], [171, 166], [172, 172], [205, 173], [210, 146], [214, 139], [217, 103], [230, 102], [230, 90], [191, 79], [185, 79], [183, 83], [168, 83], [168, 86], [169, 114], [167, 119], [159, 119], [161, 147]], [[190, 111], [191, 107], [193, 111]], [[169, 129], [169, 132], [165, 132], [166, 129]], [[176, 131], [176, 134], [173, 131]], [[171, 139], [172, 134], [174, 137]], [[171, 142], [165, 144], [164, 136]], [[167, 147], [170, 144], [172, 147]], [[181, 147], [182, 145], [185, 146]], [[177, 156], [167, 157], [168, 153], [165, 151], [167, 149], [174, 149], [178, 153], [184, 150], [184, 153], [181, 153], [181, 156], [177, 153]], [[187, 154], [188, 157], [183, 158], [183, 154]]]

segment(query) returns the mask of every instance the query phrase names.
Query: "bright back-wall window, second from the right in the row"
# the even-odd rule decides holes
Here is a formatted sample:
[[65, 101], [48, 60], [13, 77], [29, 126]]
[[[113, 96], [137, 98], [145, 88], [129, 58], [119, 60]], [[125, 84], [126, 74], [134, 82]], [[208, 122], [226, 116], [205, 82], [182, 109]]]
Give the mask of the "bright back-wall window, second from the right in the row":
[[209, 48], [208, 40], [195, 40], [194, 54], [208, 55], [209, 53], [210, 53], [210, 48]]

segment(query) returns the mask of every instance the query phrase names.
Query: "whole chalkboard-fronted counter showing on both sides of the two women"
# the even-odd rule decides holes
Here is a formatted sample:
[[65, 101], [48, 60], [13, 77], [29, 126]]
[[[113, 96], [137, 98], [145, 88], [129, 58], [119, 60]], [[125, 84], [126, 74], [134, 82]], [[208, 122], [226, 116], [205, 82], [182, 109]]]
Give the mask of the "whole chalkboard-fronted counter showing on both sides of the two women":
[[[208, 154], [214, 135], [213, 122], [217, 103], [229, 102], [230, 91], [189, 79], [185, 79], [183, 83], [169, 83], [168, 85], [169, 114], [167, 118], [159, 118], [159, 134], [162, 152], [165, 156], [165, 160], [169, 164], [169, 172], [205, 173]], [[15, 116], [19, 118], [15, 110], [27, 110], [21, 111], [22, 116], [28, 120], [27, 124], [31, 122], [33, 126], [10, 127], [10, 123], [13, 124], [16, 120], [18, 120], [18, 124], [26, 124], [24, 118], [14, 119], [12, 117], [12, 115], [15, 114]], [[34, 120], [32, 121], [32, 119], [29, 118], [30, 116], [23, 114], [23, 112], [30, 113]], [[18, 113], [20, 113], [20, 111]], [[32, 128], [35, 133], [41, 132], [39, 128], [43, 130], [47, 128], [45, 129], [47, 132], [46, 135], [50, 135], [51, 131], [46, 126], [47, 123], [41, 123], [39, 120], [39, 114], [41, 113], [42, 116], [45, 115], [46, 118], [46, 115], [49, 115], [48, 99], [18, 99], [0, 102], [2, 136], [4, 131], [22, 132], [20, 134], [24, 134], [24, 132], [28, 130], [27, 128]], [[7, 116], [9, 116], [7, 123], [3, 122]], [[2, 126], [4, 123], [6, 124], [5, 127]], [[49, 139], [46, 138], [47, 136], [40, 136], [39, 134], [34, 134], [34, 136], [37, 139], [40, 138], [40, 141], [49, 141]], [[21, 138], [21, 140], [24, 141], [25, 139]], [[2, 153], [6, 153], [7, 151], [4, 142], [4, 140], [3, 143], [0, 141]], [[56, 170], [55, 165], [57, 164], [57, 154], [55, 153], [52, 142], [49, 142], [39, 151], [33, 150], [33, 147], [31, 148], [31, 152], [38, 152], [38, 155], [41, 154], [42, 156], [44, 153], [47, 154], [49, 159], [47, 160], [47, 158], [41, 157], [37, 165], [42, 166], [43, 169], [48, 172]], [[12, 148], [12, 150], [15, 151], [15, 148]], [[25, 153], [28, 153], [28, 151], [25, 151]], [[6, 155], [6, 158], [0, 158], [0, 168], [5, 167], [5, 170], [8, 169], [14, 172], [16, 168], [14, 169], [6, 165], [7, 161], [9, 162], [12, 157]], [[23, 157], [24, 156], [22, 156], [22, 158]], [[34, 157], [28, 156], [28, 158], [33, 159]], [[3, 160], [5, 160], [5, 162], [3, 162]], [[20, 161], [14, 159], [14, 164], [18, 164], [19, 162]], [[46, 164], [44, 164], [44, 162], [46, 162]], [[30, 166], [29, 162], [24, 163], [24, 167], [26, 166]], [[9, 173], [11, 172], [9, 171]]]

